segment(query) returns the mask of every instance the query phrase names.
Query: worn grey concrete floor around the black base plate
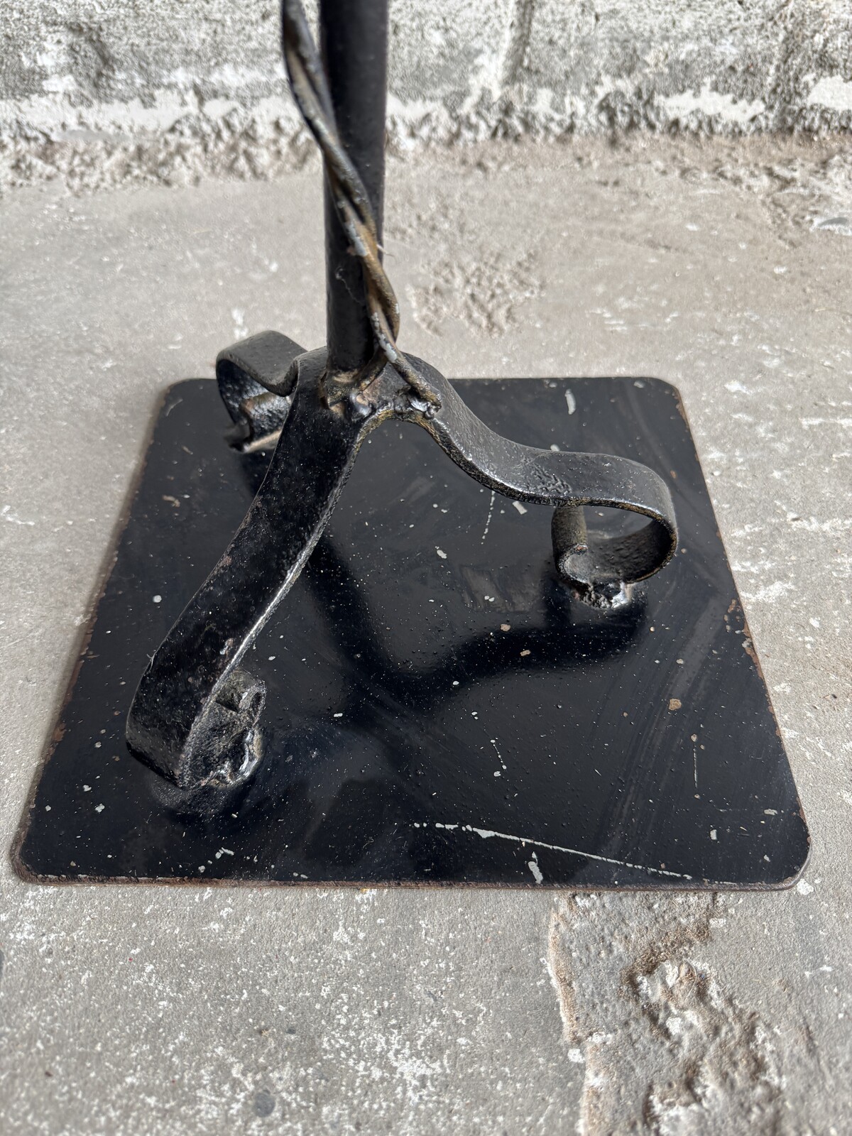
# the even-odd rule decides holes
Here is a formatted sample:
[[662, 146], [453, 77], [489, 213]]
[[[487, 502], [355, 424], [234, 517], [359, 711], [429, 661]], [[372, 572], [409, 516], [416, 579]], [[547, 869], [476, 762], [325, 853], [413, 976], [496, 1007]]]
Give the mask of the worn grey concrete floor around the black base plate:
[[[37, 887], [3, 859], [0, 1130], [842, 1136], [849, 153], [487, 144], [389, 176], [404, 346], [448, 375], [679, 385], [809, 866], [785, 893], [655, 896]], [[321, 341], [320, 226], [310, 170], [7, 197], [3, 847], [159, 392], [264, 327]]]

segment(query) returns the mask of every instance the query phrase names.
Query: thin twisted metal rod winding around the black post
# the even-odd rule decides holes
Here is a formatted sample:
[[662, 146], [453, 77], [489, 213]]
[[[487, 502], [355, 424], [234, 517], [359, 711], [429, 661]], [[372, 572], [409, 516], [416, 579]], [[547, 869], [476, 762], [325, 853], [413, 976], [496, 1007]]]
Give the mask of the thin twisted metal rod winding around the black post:
[[300, 0], [282, 0], [282, 47], [302, 118], [319, 145], [334, 206], [352, 252], [361, 262], [373, 335], [379, 352], [415, 391], [437, 409], [441, 400], [396, 346], [400, 306], [382, 265], [376, 218], [364, 182], [343, 147], [319, 53]]

